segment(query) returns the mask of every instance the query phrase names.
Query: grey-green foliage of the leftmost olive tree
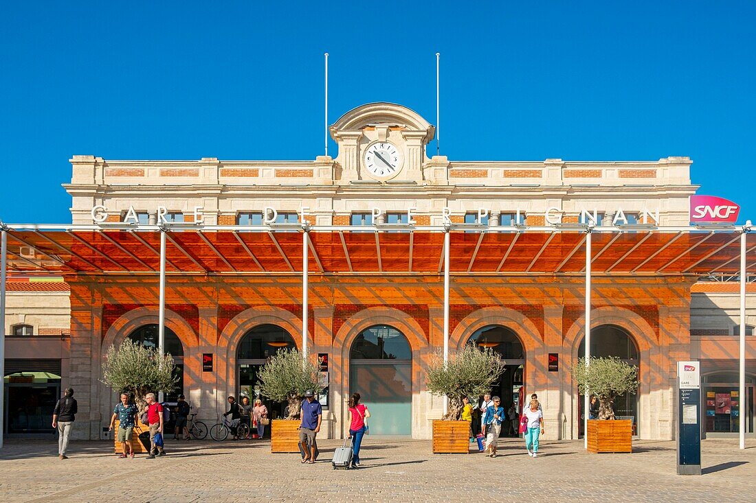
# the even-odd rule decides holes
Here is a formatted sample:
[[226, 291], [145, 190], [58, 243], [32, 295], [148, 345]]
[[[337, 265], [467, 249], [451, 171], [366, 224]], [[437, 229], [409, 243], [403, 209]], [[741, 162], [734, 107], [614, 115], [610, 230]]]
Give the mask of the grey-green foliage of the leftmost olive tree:
[[161, 358], [156, 348], [126, 339], [118, 349], [114, 346], [108, 348], [101, 381], [113, 391], [131, 393], [138, 403], [143, 403], [147, 393], [175, 390], [178, 377], [173, 375], [174, 367], [170, 354]]

